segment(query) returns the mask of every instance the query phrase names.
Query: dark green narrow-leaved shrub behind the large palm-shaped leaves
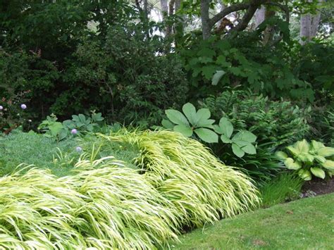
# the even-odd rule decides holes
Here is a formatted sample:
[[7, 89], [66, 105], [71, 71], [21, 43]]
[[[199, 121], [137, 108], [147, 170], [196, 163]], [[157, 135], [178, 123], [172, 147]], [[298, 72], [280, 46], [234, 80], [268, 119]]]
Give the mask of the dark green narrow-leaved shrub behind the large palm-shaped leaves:
[[290, 101], [271, 101], [252, 92], [227, 90], [204, 99], [202, 106], [209, 108], [214, 118], [226, 116], [236, 129], [253, 132], [263, 146], [286, 146], [310, 130], [310, 108], [299, 108]]

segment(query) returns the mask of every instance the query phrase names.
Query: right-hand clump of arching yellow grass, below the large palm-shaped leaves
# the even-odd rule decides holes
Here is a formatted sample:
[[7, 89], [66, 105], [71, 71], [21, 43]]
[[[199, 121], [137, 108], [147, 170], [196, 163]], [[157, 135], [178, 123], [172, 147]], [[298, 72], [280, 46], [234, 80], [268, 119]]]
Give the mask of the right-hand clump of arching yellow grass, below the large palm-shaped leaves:
[[181, 225], [201, 226], [259, 204], [249, 177], [218, 161], [194, 139], [169, 131], [126, 130], [101, 137], [137, 146], [135, 165], [178, 210]]

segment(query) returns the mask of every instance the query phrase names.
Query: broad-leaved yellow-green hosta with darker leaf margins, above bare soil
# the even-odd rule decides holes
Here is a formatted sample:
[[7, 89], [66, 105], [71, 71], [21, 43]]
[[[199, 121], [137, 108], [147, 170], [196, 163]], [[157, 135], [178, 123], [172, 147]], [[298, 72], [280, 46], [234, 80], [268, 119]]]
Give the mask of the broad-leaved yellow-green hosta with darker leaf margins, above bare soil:
[[334, 175], [334, 148], [314, 140], [309, 144], [305, 139], [287, 146], [286, 153], [278, 151], [277, 156], [288, 169], [298, 171], [299, 177], [311, 180], [312, 175], [324, 179], [326, 173]]

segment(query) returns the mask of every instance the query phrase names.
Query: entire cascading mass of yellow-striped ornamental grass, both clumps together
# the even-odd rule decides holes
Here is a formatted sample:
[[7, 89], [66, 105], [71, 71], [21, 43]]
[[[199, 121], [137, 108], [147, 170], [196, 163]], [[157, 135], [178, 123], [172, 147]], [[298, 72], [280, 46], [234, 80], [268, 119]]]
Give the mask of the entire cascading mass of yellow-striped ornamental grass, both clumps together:
[[[245, 175], [182, 135], [122, 130], [93, 138], [71, 175], [33, 168], [0, 177], [0, 249], [154, 249], [184, 227], [259, 203]], [[138, 154], [129, 163], [100, 158], [109, 144]]]

